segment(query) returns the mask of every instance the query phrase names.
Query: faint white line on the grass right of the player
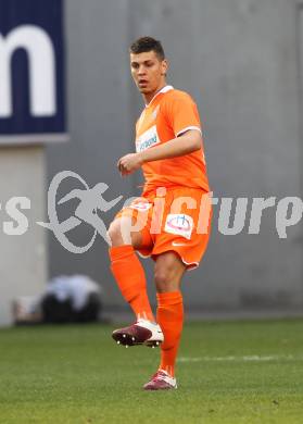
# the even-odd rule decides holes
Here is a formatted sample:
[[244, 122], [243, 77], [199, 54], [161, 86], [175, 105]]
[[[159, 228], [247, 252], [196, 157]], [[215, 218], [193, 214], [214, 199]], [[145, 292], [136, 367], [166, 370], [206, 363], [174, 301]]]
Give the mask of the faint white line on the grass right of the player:
[[178, 362], [224, 362], [224, 361], [238, 361], [238, 362], [261, 362], [261, 361], [276, 361], [276, 360], [287, 360], [287, 361], [293, 361], [293, 360], [302, 360], [303, 358], [294, 358], [292, 354], [268, 354], [268, 356], [258, 356], [258, 354], [252, 354], [252, 356], [245, 356], [245, 357], [198, 357], [198, 358], [190, 358], [190, 357], [180, 357], [177, 359]]

